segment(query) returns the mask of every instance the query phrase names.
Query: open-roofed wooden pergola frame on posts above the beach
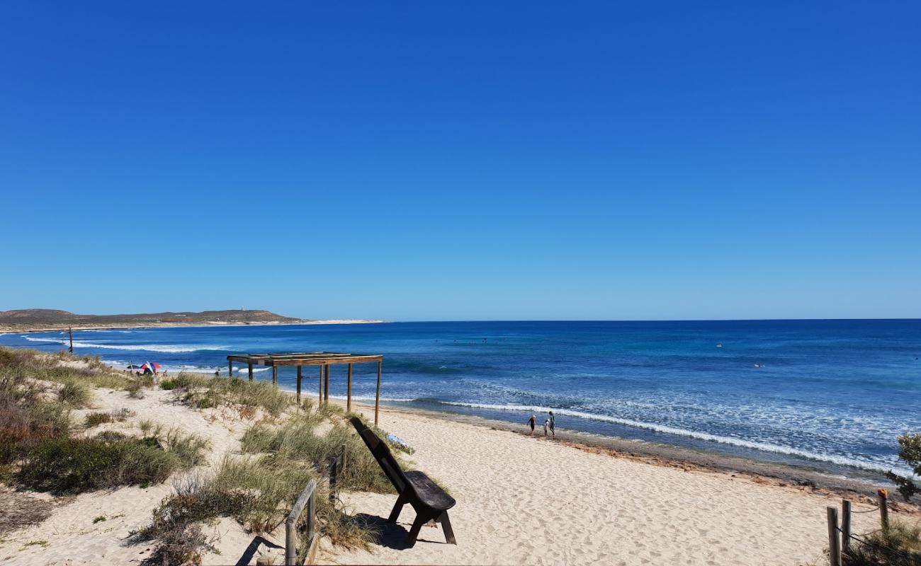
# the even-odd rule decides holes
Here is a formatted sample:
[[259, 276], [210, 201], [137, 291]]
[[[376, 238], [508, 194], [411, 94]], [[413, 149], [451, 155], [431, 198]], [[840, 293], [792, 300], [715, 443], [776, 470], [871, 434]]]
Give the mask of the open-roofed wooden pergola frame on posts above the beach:
[[252, 381], [253, 365], [268, 365], [272, 367], [272, 383], [278, 386], [278, 367], [280, 365], [297, 366], [297, 402], [300, 403], [301, 367], [304, 365], [320, 366], [320, 402], [330, 402], [330, 366], [334, 364], [348, 365], [348, 387], [346, 389], [345, 409], [352, 410], [352, 364], [378, 363], [378, 388], [374, 396], [374, 424], [378, 424], [380, 406], [380, 366], [384, 356], [376, 354], [343, 353], [343, 352], [284, 352], [284, 353], [235, 353], [227, 356], [230, 374], [233, 375], [233, 363], [246, 364]]

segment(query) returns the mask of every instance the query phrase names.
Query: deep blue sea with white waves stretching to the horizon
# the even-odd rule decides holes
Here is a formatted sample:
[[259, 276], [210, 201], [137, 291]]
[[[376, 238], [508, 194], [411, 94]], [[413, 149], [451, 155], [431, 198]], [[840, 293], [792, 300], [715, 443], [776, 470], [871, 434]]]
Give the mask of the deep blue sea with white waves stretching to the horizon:
[[[62, 340], [59, 332], [0, 335], [0, 344], [49, 351]], [[921, 432], [916, 319], [80, 330], [74, 345], [117, 365], [150, 361], [170, 373], [222, 375], [232, 352], [382, 353], [389, 404], [522, 427], [532, 411], [553, 409], [560, 429], [843, 475], [904, 470], [895, 438]], [[272, 378], [259, 369], [257, 378]], [[315, 394], [314, 368], [305, 371]], [[374, 399], [376, 371], [356, 365], [356, 399]], [[344, 372], [332, 367], [334, 396], [344, 396]], [[293, 388], [294, 368], [282, 370], [279, 383]]]

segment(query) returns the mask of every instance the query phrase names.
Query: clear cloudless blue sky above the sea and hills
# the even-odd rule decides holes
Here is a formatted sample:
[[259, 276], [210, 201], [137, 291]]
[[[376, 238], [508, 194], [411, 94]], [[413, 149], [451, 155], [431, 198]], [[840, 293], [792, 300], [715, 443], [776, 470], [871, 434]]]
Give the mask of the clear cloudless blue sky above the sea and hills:
[[0, 309], [921, 317], [917, 2], [4, 2]]

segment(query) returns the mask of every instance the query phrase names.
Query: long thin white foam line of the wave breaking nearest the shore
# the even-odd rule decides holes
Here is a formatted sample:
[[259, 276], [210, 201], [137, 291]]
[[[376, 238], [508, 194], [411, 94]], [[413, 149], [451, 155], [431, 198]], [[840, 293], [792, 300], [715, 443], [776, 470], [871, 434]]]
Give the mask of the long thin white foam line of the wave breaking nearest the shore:
[[463, 403], [460, 401], [439, 401], [439, 402], [445, 405], [454, 405], [457, 407], [470, 407], [472, 409], [522, 410], [522, 411], [534, 411], [534, 412], [547, 412], [548, 410], [553, 410], [554, 414], [556, 415], [577, 417], [579, 419], [587, 419], [589, 421], [612, 422], [615, 424], [624, 424], [626, 426], [632, 426], [635, 428], [655, 431], [657, 433], [675, 434], [676, 436], [687, 436], [690, 438], [696, 438], [698, 440], [716, 442], [716, 443], [720, 443], [724, 445], [735, 445], [735, 446], [740, 446], [744, 448], [753, 448], [755, 450], [762, 450], [764, 452], [774, 452], [776, 454], [786, 454], [789, 456], [800, 456], [800, 457], [808, 458], [810, 460], [831, 462], [839, 466], [850, 466], [853, 468], [869, 469], [873, 471], [888, 471], [890, 469], [888, 467], [883, 468], [883, 467], [880, 467], [879, 465], [874, 465], [870, 462], [864, 462], [861, 460], [857, 460], [854, 458], [848, 458], [845, 456], [816, 454], [808, 450], [802, 450], [800, 448], [793, 448], [791, 446], [782, 446], [782, 445], [774, 445], [774, 444], [764, 443], [764, 442], [755, 442], [755, 441], [750, 441], [750, 440], [744, 440], [741, 438], [733, 438], [731, 436], [721, 436], [719, 434], [700, 433], [697, 431], [689, 431], [689, 430], [680, 429], [680, 428], [676, 428], [673, 426], [667, 426], [663, 424], [634, 421], [631, 419], [621, 419], [619, 417], [611, 417], [608, 415], [593, 414], [589, 412], [582, 412], [580, 410], [554, 409], [552, 407], [535, 407], [531, 405], [492, 405], [489, 403]]

